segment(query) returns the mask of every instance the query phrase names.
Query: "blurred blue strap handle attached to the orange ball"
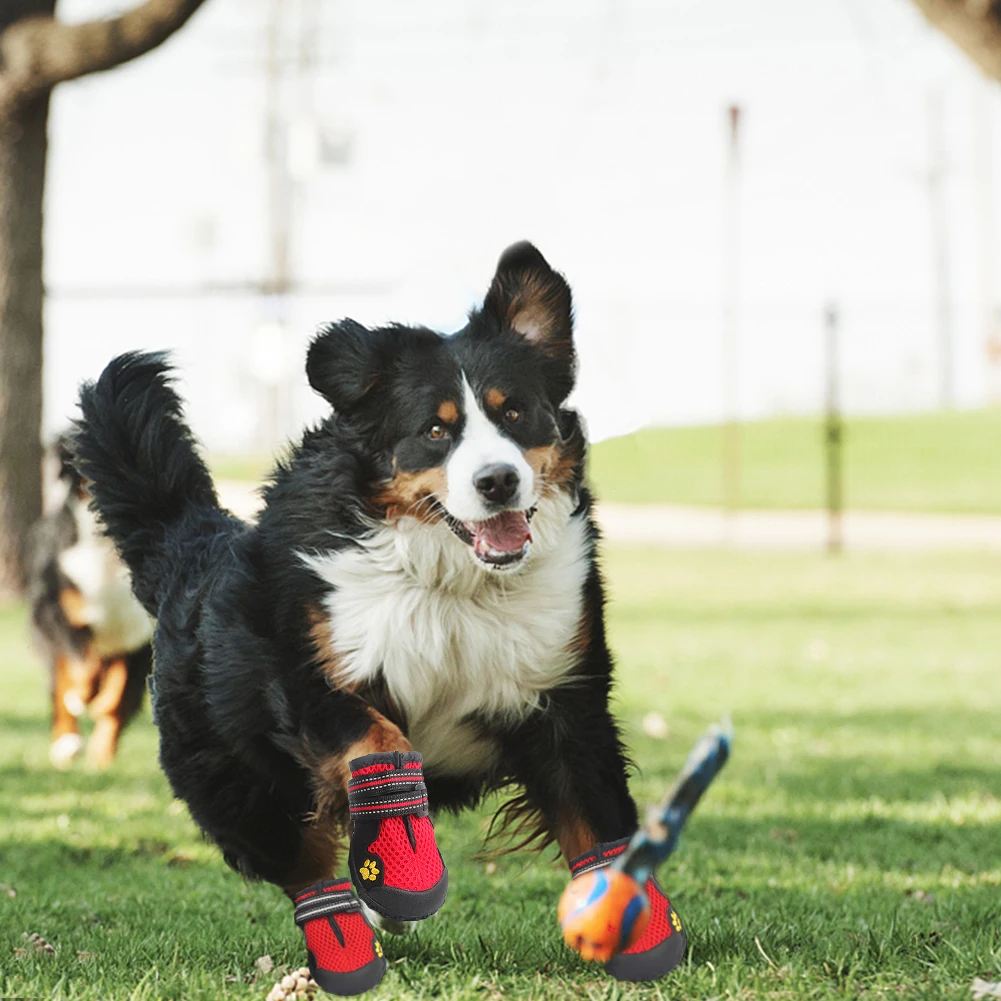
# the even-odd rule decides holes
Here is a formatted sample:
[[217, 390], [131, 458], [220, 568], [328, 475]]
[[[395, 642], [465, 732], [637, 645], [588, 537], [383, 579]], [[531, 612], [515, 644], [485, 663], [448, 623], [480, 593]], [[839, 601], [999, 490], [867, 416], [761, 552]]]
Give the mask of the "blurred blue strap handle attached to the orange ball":
[[733, 739], [733, 728], [729, 720], [724, 720], [699, 740], [675, 784], [660, 803], [650, 808], [646, 824], [613, 862], [616, 869], [629, 873], [640, 886], [646, 885], [658, 865], [675, 850], [689, 815], [726, 765]]

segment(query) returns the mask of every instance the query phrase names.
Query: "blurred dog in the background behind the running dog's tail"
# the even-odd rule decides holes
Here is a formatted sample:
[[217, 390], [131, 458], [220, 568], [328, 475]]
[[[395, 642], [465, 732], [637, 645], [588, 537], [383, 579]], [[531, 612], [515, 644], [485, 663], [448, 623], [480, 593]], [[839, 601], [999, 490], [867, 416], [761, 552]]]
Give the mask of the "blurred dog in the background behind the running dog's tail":
[[105, 768], [142, 705], [153, 627], [87, 508], [84, 481], [63, 439], [53, 452], [56, 496], [28, 542], [32, 624], [50, 673], [49, 758], [57, 768], [70, 765], [82, 749], [79, 720], [87, 714], [94, 721], [87, 762]]

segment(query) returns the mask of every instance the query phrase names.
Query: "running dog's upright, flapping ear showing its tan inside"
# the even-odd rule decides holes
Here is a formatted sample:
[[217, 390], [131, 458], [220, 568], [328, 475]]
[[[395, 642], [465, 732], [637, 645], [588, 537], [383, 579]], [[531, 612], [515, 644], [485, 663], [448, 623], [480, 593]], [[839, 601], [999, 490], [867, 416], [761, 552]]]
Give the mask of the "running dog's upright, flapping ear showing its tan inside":
[[570, 285], [528, 241], [508, 247], [483, 300], [483, 312], [521, 334], [547, 358], [562, 401], [574, 387], [574, 301]]

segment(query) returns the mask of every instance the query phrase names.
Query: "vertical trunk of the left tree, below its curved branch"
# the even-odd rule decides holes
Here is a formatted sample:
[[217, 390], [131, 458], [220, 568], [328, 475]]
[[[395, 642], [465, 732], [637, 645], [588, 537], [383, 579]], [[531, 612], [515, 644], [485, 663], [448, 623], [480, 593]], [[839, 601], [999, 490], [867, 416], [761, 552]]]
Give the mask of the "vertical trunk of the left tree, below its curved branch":
[[42, 192], [48, 96], [0, 122], [0, 598], [42, 511]]

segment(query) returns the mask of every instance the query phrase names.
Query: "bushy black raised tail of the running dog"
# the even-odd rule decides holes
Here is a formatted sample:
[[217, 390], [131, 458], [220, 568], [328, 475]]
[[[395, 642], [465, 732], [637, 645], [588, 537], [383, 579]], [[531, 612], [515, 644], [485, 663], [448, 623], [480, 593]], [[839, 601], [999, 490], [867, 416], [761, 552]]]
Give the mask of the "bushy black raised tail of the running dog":
[[[74, 461], [93, 504], [132, 574], [132, 590], [151, 615], [172, 576], [165, 540], [219, 510], [212, 477], [184, 422], [163, 353], [130, 351], [80, 390], [83, 416]], [[194, 527], [192, 526], [192, 529]]]

